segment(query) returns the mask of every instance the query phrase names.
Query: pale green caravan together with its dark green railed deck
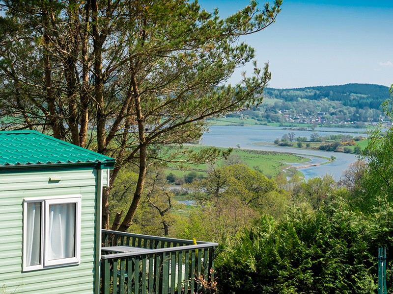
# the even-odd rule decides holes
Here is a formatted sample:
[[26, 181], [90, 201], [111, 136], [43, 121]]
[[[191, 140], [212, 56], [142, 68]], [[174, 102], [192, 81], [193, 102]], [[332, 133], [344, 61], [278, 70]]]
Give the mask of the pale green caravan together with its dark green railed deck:
[[[0, 132], [0, 293], [182, 294], [214, 283], [217, 243], [101, 230], [114, 159]], [[104, 245], [104, 246], [102, 246]]]

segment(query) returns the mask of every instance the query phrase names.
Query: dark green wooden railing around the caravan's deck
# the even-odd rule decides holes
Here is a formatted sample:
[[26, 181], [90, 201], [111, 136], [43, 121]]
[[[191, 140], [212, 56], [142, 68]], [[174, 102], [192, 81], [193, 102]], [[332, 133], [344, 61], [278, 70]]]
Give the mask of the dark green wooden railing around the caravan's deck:
[[101, 256], [102, 294], [193, 294], [214, 281], [217, 243], [109, 230], [102, 242], [146, 249]]

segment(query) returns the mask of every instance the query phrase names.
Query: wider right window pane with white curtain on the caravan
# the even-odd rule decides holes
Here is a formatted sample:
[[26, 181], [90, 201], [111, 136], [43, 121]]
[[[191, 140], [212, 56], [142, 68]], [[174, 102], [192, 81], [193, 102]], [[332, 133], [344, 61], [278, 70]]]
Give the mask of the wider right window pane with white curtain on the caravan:
[[75, 257], [76, 203], [49, 205], [48, 260]]

